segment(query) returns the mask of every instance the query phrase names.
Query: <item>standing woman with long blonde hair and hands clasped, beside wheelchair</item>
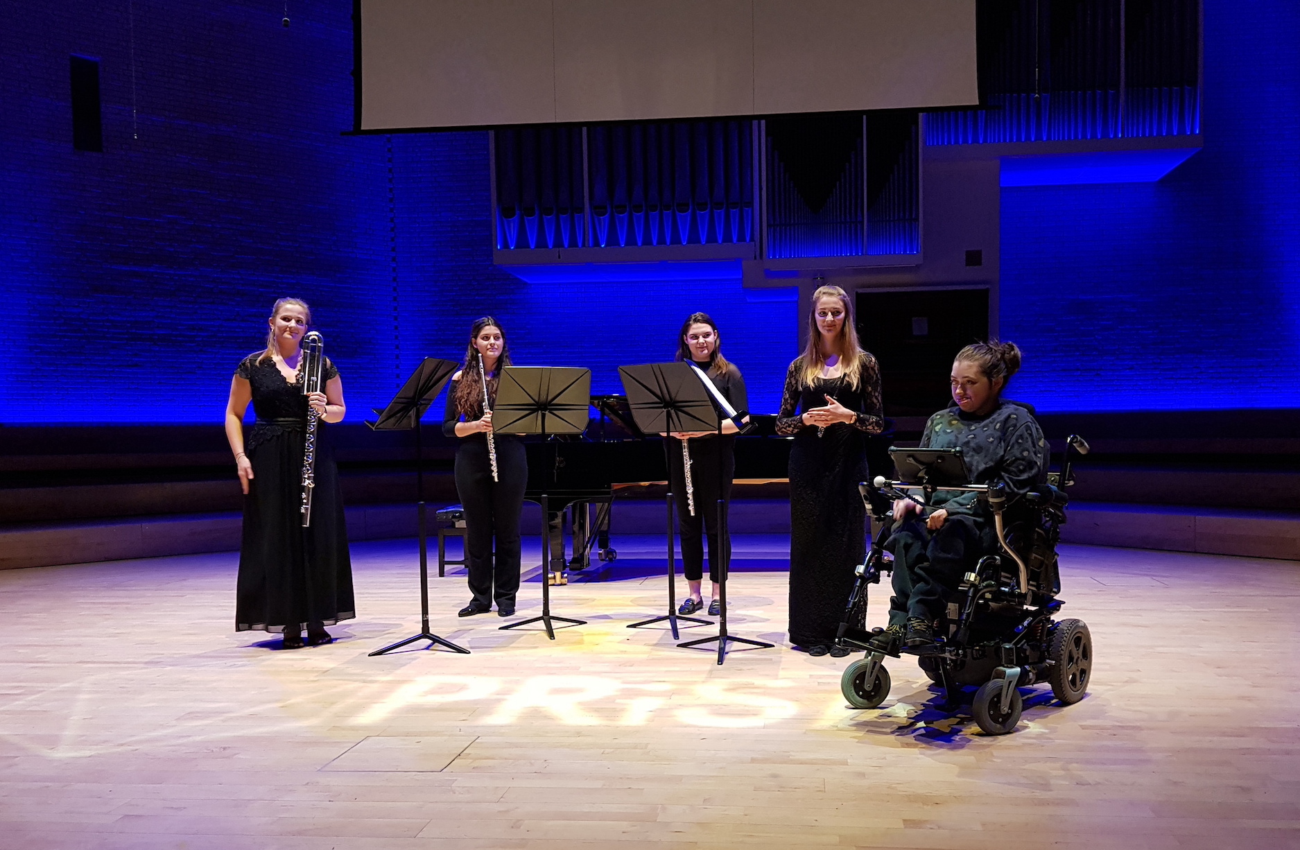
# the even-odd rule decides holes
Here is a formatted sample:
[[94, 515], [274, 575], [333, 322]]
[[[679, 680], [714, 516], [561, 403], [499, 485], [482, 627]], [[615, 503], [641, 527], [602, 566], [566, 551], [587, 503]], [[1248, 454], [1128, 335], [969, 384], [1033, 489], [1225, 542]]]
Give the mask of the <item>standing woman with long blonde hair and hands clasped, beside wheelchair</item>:
[[[880, 369], [838, 286], [812, 294], [807, 347], [785, 374], [776, 431], [790, 448], [790, 643], [826, 655], [866, 555], [866, 435], [884, 425]], [[836, 654], [840, 654], [836, 651]]]

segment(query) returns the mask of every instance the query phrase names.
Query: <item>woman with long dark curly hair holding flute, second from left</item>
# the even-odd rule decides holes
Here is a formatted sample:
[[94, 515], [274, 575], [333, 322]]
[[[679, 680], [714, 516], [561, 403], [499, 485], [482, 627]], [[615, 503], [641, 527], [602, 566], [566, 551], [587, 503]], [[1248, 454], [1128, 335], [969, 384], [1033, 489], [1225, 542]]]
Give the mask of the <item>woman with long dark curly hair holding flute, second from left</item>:
[[[519, 515], [524, 509], [528, 459], [524, 443], [512, 434], [497, 434], [491, 408], [502, 367], [510, 365], [510, 346], [500, 322], [484, 316], [469, 330], [465, 363], [451, 376], [442, 433], [459, 437], [456, 494], [465, 512], [465, 559], [469, 604], [460, 616], [491, 611], [515, 613], [519, 593]], [[495, 547], [493, 542], [495, 541]]]

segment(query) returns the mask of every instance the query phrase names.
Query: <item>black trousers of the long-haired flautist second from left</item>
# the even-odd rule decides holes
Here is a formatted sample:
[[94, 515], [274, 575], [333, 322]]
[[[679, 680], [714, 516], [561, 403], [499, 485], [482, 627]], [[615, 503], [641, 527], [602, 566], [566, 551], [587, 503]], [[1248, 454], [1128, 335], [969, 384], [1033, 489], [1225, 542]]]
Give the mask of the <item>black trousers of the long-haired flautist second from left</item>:
[[498, 607], [512, 606], [519, 593], [519, 515], [528, 485], [524, 443], [497, 438], [497, 473], [499, 481], [493, 481], [485, 438], [462, 441], [456, 450], [456, 494], [465, 509], [469, 593], [480, 608], [490, 608], [494, 599]]

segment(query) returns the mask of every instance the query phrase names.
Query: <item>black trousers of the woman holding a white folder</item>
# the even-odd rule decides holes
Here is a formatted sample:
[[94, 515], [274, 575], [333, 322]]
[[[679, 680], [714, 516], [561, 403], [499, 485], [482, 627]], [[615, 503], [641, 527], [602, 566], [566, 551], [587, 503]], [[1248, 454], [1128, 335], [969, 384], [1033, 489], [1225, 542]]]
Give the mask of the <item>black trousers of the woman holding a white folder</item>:
[[[668, 481], [677, 504], [677, 537], [681, 539], [681, 572], [688, 581], [699, 581], [705, 574], [705, 537], [708, 538], [708, 578], [722, 581], [719, 568], [723, 552], [731, 561], [731, 533], [727, 530], [727, 512], [731, 509], [732, 478], [736, 474], [734, 438], [705, 437], [686, 441], [690, 444], [690, 483], [694, 493], [696, 515], [686, 504], [685, 459], [681, 441], [668, 439]], [[719, 464], [722, 470], [719, 473]], [[722, 480], [723, 528], [718, 528], [718, 485]], [[719, 534], [720, 530], [720, 534]]]

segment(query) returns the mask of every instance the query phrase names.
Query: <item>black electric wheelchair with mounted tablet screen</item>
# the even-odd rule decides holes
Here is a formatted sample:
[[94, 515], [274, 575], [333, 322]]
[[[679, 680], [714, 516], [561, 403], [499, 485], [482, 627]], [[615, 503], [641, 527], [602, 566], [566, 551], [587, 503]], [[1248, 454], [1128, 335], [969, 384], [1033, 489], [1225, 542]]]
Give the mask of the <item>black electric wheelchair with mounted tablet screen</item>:
[[[985, 734], [1006, 734], [1020, 720], [1023, 699], [1017, 690], [1049, 682], [1062, 704], [1083, 699], [1092, 675], [1092, 637], [1082, 620], [1056, 620], [1063, 604], [1057, 572], [1056, 545], [1069, 503], [1063, 489], [1071, 477], [1071, 452], [1088, 454], [1082, 437], [1066, 441], [1060, 473], [1049, 485], [1009, 503], [1005, 485], [972, 485], [966, 476], [961, 450], [890, 448], [900, 481], [879, 476], [859, 485], [863, 502], [881, 532], [857, 568], [853, 591], [840, 623], [836, 643], [849, 651], [866, 650], [844, 671], [840, 690], [854, 708], [875, 708], [889, 695], [885, 656], [900, 658], [897, 641], [878, 638], [883, 629], [867, 632], [867, 587], [892, 573], [884, 546], [892, 532], [889, 499], [913, 499], [926, 504], [940, 490], [979, 493], [993, 516], [998, 547], [980, 558], [956, 589], [949, 589], [946, 613], [935, 629], [935, 645], [920, 650], [918, 662], [931, 681], [944, 689], [945, 703], [958, 703], [965, 686], [979, 690], [971, 714]], [[922, 498], [907, 491], [919, 490]], [[884, 649], [887, 647], [887, 649]]]

